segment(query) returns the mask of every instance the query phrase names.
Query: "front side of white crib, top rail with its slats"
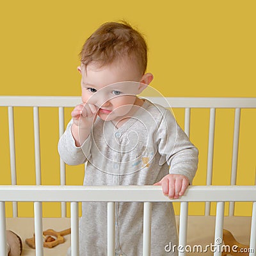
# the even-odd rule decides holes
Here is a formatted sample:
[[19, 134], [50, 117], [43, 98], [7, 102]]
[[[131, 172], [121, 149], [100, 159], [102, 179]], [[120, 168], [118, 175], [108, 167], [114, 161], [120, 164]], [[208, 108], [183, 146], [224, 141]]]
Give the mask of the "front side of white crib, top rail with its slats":
[[[190, 186], [185, 195], [176, 200], [170, 200], [163, 195], [160, 186], [0, 186], [0, 234], [1, 239], [0, 256], [5, 256], [5, 209], [4, 202], [35, 202], [35, 224], [38, 226], [35, 230], [36, 256], [42, 256], [42, 209], [41, 202], [72, 202], [71, 203], [71, 228], [72, 228], [72, 256], [79, 255], [78, 244], [78, 202], [108, 202], [108, 256], [115, 255], [115, 202], [146, 202], [144, 221], [147, 227], [144, 228], [143, 234], [143, 256], [150, 256], [150, 220], [151, 220], [151, 203], [150, 202], [217, 202], [216, 212], [216, 231], [215, 245], [216, 248], [221, 245], [217, 239], [222, 239], [224, 202], [256, 202], [256, 186]], [[65, 198], [65, 199], [63, 199]], [[40, 202], [40, 204], [38, 204]], [[186, 208], [186, 204], [185, 204]], [[253, 203], [252, 228], [250, 248], [255, 255], [255, 230], [256, 214], [255, 203]], [[36, 213], [37, 212], [37, 213]], [[186, 244], [186, 221], [187, 209], [181, 214], [179, 241], [181, 245]], [[179, 252], [179, 255], [185, 255], [185, 252]], [[221, 252], [214, 252], [214, 256], [221, 255]]]

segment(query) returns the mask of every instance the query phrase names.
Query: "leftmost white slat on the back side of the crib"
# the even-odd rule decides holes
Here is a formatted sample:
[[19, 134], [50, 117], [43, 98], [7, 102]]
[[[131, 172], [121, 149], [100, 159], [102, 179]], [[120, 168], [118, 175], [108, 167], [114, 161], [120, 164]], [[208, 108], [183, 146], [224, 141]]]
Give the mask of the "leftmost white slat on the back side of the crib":
[[[8, 107], [8, 124], [9, 124], [10, 167], [11, 167], [12, 185], [16, 185], [17, 178], [16, 178], [13, 107]], [[12, 202], [12, 216], [13, 218], [16, 218], [18, 216], [17, 202]]]

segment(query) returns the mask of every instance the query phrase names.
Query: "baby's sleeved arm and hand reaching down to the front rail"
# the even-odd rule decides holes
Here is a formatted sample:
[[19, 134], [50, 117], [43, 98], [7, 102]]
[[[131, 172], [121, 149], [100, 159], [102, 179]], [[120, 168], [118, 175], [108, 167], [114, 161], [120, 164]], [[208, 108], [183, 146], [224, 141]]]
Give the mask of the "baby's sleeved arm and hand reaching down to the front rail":
[[175, 118], [166, 111], [159, 127], [159, 153], [161, 163], [170, 166], [170, 174], [154, 185], [162, 186], [164, 195], [177, 199], [184, 195], [189, 184], [192, 184], [198, 164], [198, 150], [189, 141], [188, 136], [179, 127]]

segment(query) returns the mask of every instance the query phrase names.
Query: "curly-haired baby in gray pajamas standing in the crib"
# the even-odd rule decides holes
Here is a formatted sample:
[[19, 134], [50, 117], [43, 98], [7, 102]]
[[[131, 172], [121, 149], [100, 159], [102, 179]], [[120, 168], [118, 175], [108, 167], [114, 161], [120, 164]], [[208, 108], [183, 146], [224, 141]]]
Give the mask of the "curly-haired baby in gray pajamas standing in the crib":
[[[127, 22], [102, 24], [83, 45], [82, 103], [61, 136], [58, 150], [70, 165], [86, 161], [84, 186], [158, 185], [170, 199], [191, 184], [198, 150], [168, 109], [138, 97], [146, 73], [147, 44]], [[79, 255], [107, 255], [107, 203], [83, 202]], [[116, 255], [141, 256], [143, 203], [116, 203]], [[171, 202], [152, 203], [151, 255], [177, 255]]]

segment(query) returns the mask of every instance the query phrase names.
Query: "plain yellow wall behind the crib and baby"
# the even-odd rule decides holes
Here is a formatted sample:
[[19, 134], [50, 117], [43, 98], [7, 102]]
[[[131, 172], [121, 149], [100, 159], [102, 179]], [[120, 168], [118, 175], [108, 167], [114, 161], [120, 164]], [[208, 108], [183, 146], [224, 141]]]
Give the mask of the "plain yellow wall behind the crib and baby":
[[[76, 67], [84, 40], [100, 24], [125, 19], [145, 35], [151, 85], [164, 96], [256, 97], [255, 11], [254, 0], [1, 1], [0, 95], [80, 95]], [[15, 108], [18, 184], [35, 184], [32, 111]], [[183, 113], [175, 110], [181, 126]], [[0, 183], [10, 184], [6, 108], [0, 116]], [[200, 150], [194, 184], [205, 184], [208, 118], [208, 109], [191, 111], [191, 140]], [[255, 110], [242, 111], [237, 184], [254, 184], [255, 119]], [[40, 120], [42, 184], [59, 184], [58, 110], [40, 109]], [[233, 109], [216, 111], [213, 184], [230, 181], [233, 122]], [[82, 182], [83, 166], [67, 166], [67, 184]], [[19, 204], [19, 216], [32, 210]], [[239, 203], [235, 213], [251, 210]], [[204, 214], [202, 204], [191, 204], [189, 213]], [[44, 216], [59, 215], [60, 204], [44, 204]]]

